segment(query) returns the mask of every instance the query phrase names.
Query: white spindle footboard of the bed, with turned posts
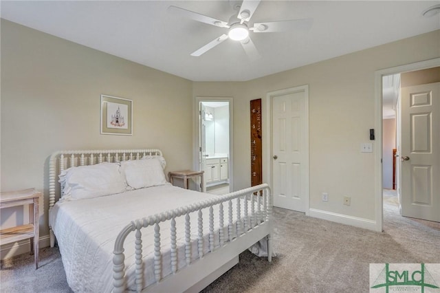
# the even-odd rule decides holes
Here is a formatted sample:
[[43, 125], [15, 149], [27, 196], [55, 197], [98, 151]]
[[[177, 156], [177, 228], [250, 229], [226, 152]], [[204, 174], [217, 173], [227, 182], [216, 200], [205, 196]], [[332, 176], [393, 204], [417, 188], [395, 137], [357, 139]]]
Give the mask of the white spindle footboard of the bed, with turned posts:
[[[202, 213], [206, 213], [206, 210], [208, 210], [209, 217], [208, 221], [203, 223]], [[197, 239], [191, 239], [190, 237], [189, 215], [194, 212], [198, 215], [197, 233], [195, 233]], [[267, 237], [267, 259], [271, 261], [271, 215], [272, 196], [270, 187], [267, 184], [261, 184], [132, 221], [119, 233], [115, 241], [113, 292], [124, 292], [126, 290], [124, 241], [131, 232], [135, 232], [135, 290], [137, 292], [145, 290], [169, 292], [173, 288], [175, 288], [174, 290], [178, 288], [179, 291], [185, 291], [264, 237]], [[179, 217], [184, 218], [185, 221], [185, 265], [180, 269], [178, 269], [176, 239], [176, 219]], [[214, 217], [217, 217], [218, 225], [214, 225]], [[163, 225], [169, 225], [170, 228], [170, 263], [162, 262], [160, 229]], [[203, 235], [204, 226], [209, 227], [208, 237]], [[146, 268], [147, 266], [143, 265], [142, 259], [142, 229], [147, 227], [154, 228], [153, 268]], [[208, 239], [208, 241], [205, 239]], [[204, 243], [205, 241], [207, 243]], [[192, 260], [191, 255], [192, 245], [197, 246], [198, 255], [195, 261]], [[208, 247], [208, 253], [203, 255], [204, 246]], [[170, 267], [171, 274], [168, 276], [162, 274], [165, 265]], [[153, 270], [155, 283], [144, 285], [144, 270]], [[197, 272], [197, 276], [194, 272]], [[184, 283], [181, 283], [182, 281]], [[173, 287], [175, 285], [178, 285], [178, 287]]]

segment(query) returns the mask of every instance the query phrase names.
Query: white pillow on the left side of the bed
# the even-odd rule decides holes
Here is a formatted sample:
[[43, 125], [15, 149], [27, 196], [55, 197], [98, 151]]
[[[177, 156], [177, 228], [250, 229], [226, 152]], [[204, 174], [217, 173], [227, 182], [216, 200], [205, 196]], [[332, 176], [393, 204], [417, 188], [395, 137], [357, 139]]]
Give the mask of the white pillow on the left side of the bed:
[[119, 164], [104, 162], [63, 171], [59, 181], [63, 198], [85, 199], [124, 192], [126, 182], [119, 169]]

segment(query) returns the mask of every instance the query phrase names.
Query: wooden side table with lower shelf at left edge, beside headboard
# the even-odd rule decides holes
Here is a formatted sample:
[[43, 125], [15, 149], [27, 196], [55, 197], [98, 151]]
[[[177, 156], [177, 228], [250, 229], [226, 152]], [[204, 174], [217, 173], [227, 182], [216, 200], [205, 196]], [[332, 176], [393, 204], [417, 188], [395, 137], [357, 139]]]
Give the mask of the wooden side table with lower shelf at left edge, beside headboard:
[[41, 193], [34, 188], [0, 193], [0, 208], [29, 204], [29, 224], [0, 230], [0, 245], [30, 239], [30, 253], [34, 254], [35, 269], [39, 268], [39, 200]]

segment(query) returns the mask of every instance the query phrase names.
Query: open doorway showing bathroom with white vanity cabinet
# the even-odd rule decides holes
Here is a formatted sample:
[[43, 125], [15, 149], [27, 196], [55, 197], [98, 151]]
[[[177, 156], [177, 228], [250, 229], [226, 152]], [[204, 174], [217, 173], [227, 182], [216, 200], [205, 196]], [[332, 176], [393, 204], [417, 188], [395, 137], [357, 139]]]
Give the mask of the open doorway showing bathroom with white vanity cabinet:
[[232, 100], [197, 98], [197, 168], [204, 171], [204, 192], [232, 191]]

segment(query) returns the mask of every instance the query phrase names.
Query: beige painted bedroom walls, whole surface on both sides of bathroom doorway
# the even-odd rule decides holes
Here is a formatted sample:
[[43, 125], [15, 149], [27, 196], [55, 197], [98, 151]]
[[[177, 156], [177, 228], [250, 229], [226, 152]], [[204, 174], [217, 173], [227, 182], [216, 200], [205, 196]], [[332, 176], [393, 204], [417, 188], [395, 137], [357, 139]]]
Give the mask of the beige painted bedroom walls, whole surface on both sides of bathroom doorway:
[[[360, 144], [369, 142], [375, 123], [375, 71], [439, 57], [439, 43], [436, 31], [248, 82], [192, 83], [2, 20], [1, 191], [44, 191], [47, 235], [53, 151], [158, 147], [166, 171], [190, 168], [195, 96], [234, 98], [234, 190], [247, 187], [250, 100], [307, 84], [310, 207], [374, 220], [374, 153], [360, 153]], [[133, 136], [100, 135], [100, 94], [133, 100]], [[322, 192], [329, 202], [321, 202]], [[344, 196], [351, 206], [342, 204]], [[20, 221], [21, 211], [1, 215], [4, 225]]]

